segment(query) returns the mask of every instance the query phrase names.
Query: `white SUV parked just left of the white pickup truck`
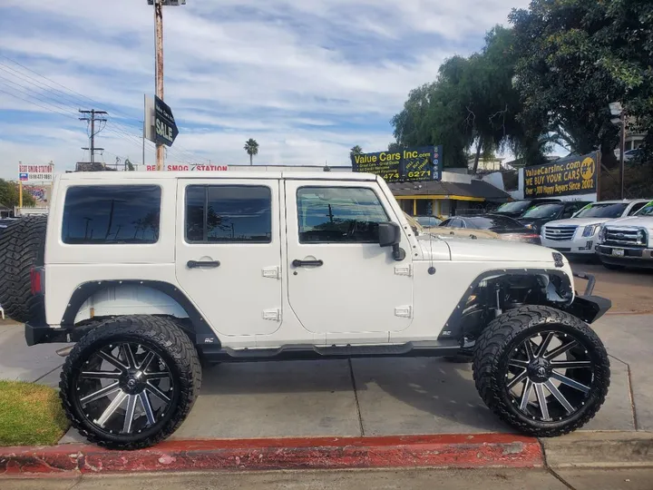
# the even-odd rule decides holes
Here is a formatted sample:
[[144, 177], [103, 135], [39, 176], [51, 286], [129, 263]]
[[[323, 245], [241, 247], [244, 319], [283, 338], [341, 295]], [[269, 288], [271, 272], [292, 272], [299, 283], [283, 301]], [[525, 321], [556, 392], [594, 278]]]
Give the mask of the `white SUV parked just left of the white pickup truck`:
[[564, 253], [594, 254], [601, 224], [632, 216], [647, 203], [647, 200], [593, 202], [568, 220], [550, 221], [542, 226], [542, 245]]

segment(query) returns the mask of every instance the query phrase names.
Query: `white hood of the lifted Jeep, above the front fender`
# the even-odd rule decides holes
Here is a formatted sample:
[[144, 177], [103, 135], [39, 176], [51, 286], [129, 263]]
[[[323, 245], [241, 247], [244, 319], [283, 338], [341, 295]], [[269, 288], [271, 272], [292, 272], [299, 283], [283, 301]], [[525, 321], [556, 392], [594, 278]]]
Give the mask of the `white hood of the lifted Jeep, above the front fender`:
[[[442, 237], [451, 250], [452, 260], [480, 262], [549, 262], [555, 250], [508, 240], [472, 240]], [[428, 245], [428, 243], [427, 243]]]

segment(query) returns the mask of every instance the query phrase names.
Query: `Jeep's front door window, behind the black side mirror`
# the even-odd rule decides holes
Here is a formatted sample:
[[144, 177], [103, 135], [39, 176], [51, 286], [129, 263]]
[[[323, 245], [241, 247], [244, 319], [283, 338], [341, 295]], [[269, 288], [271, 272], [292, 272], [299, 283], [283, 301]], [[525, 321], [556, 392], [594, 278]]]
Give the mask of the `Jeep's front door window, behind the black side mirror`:
[[377, 243], [387, 214], [371, 189], [302, 187], [297, 190], [299, 242]]

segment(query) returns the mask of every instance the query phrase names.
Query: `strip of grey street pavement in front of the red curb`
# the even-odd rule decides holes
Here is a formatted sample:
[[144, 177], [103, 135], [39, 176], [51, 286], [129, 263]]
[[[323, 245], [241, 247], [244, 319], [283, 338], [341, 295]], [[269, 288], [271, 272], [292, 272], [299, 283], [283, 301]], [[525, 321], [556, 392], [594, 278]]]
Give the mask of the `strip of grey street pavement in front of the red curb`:
[[653, 468], [353, 470], [239, 473], [174, 473], [0, 479], [3, 490], [651, 490]]

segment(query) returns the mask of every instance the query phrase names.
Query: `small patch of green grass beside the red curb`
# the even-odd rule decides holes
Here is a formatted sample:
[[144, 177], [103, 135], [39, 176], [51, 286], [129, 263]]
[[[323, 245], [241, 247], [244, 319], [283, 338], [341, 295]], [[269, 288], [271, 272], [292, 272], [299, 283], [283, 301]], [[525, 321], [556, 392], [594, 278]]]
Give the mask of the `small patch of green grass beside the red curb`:
[[0, 380], [0, 446], [53, 445], [68, 426], [54, 388]]

